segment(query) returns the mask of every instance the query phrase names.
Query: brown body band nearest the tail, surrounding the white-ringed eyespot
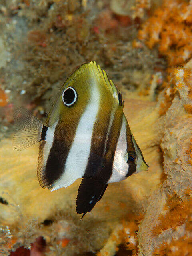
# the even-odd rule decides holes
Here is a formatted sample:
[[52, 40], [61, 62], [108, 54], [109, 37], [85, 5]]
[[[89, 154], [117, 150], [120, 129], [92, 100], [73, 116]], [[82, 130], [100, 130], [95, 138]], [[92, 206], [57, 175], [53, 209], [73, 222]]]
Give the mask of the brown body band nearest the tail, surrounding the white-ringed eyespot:
[[[50, 127], [58, 120], [54, 131], [54, 139], [46, 163], [38, 168], [38, 177], [41, 177], [40, 184], [49, 184], [49, 188], [62, 175], [65, 162], [74, 141], [79, 120], [86, 109], [90, 99], [90, 84], [92, 77], [86, 66], [81, 66], [74, 74], [66, 80], [60, 89], [59, 95], [48, 115], [47, 122]], [[62, 101], [62, 92], [66, 87], [73, 87], [78, 95], [74, 105], [67, 107]], [[43, 152], [39, 155], [42, 158]], [[39, 160], [39, 162], [42, 162]]]

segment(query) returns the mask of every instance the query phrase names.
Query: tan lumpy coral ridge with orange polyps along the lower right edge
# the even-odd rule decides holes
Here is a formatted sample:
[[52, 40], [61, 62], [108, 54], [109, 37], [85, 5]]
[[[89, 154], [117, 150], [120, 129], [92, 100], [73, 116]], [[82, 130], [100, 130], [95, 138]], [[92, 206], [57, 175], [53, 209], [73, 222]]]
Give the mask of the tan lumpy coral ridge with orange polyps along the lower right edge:
[[[175, 69], [172, 76], [176, 92], [157, 124], [167, 178], [148, 199], [138, 231], [139, 256], [191, 254], [192, 114], [185, 110], [186, 104], [191, 105], [191, 74], [192, 60]], [[163, 94], [159, 95], [158, 106]]]

